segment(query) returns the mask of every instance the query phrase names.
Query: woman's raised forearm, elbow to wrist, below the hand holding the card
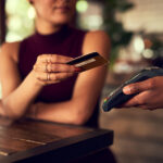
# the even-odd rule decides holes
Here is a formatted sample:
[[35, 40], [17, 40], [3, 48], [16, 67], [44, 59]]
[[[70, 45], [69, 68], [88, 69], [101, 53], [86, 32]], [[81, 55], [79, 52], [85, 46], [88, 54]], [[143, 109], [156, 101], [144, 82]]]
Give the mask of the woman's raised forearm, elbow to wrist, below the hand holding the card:
[[37, 82], [35, 73], [32, 71], [14, 91], [2, 99], [5, 116], [11, 118], [23, 116], [41, 88], [41, 84]]

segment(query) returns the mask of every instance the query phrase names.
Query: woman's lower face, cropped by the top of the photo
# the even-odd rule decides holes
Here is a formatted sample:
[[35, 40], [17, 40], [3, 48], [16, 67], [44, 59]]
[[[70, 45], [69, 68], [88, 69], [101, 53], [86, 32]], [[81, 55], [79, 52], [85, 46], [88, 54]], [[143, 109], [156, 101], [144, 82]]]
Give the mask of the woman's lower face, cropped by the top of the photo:
[[76, 0], [30, 0], [37, 16], [52, 24], [62, 25], [71, 21], [75, 13]]

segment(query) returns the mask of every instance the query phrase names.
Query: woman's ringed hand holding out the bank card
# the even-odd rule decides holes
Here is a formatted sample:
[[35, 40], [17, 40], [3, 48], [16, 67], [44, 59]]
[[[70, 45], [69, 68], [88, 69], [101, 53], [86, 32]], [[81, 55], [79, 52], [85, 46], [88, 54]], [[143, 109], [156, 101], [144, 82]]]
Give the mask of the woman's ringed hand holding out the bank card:
[[65, 64], [72, 58], [58, 54], [41, 54], [34, 65], [36, 78], [42, 85], [59, 83], [79, 71], [73, 65]]

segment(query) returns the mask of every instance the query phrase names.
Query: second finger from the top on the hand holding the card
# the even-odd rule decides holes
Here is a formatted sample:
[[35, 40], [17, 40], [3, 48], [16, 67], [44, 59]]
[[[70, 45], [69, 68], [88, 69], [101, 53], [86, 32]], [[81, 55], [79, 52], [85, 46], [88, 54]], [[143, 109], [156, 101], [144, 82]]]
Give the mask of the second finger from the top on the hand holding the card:
[[46, 72], [46, 73], [74, 73], [75, 66], [67, 65], [67, 64], [53, 64], [53, 63], [41, 63], [41, 64], [35, 64], [34, 70], [36, 72]]

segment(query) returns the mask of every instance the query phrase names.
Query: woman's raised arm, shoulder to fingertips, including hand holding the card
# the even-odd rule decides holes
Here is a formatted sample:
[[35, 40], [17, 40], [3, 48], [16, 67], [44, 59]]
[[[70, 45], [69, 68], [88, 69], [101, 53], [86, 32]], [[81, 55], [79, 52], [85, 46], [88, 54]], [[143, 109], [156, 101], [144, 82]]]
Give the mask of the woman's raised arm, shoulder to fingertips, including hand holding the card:
[[[47, 58], [51, 58], [52, 62], [67, 62], [70, 58], [61, 55], [42, 54], [38, 57], [35, 68], [22, 82], [18, 73], [18, 43], [5, 43], [0, 52], [0, 79], [2, 85], [2, 106], [5, 111], [5, 116], [11, 118], [20, 118], [26, 112], [35, 98], [38, 96], [41, 88], [48, 84], [54, 84], [60, 79], [66, 78], [73, 74], [74, 67], [60, 64], [60, 73], [51, 73], [50, 82], [47, 80], [47, 72], [40, 70], [47, 63]], [[64, 71], [64, 72], [63, 72]]]

